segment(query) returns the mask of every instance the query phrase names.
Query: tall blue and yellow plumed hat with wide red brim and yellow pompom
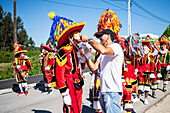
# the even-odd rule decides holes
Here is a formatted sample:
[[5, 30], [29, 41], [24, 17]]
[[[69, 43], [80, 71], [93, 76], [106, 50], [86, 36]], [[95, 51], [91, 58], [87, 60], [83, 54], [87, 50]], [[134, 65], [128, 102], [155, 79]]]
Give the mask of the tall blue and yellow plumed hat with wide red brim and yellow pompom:
[[50, 31], [50, 41], [54, 43], [57, 41], [57, 46], [62, 47], [68, 42], [68, 37], [71, 32], [79, 31], [83, 29], [85, 22], [75, 23], [74, 21], [60, 16], [55, 16], [54, 12], [50, 12], [50, 19], [53, 20]]

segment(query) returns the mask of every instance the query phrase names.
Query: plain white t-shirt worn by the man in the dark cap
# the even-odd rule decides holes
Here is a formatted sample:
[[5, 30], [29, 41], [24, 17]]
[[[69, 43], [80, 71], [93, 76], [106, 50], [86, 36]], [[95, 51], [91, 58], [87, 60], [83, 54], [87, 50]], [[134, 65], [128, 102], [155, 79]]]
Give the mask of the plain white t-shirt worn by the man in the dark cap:
[[123, 92], [122, 90], [122, 65], [123, 50], [117, 43], [109, 45], [114, 55], [102, 55], [97, 61], [100, 63], [100, 87], [101, 92]]

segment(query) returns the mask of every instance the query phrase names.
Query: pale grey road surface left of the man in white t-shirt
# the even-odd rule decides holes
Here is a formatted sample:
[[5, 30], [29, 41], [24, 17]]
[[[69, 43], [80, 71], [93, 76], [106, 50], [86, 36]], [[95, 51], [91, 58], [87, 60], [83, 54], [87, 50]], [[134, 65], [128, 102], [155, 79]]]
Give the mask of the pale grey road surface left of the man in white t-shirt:
[[[88, 99], [91, 75], [85, 73], [85, 85], [83, 87], [83, 111], [93, 113]], [[62, 113], [62, 97], [59, 90], [53, 90], [53, 94], [42, 93], [41, 83], [32, 84], [28, 96], [17, 96], [17, 92], [0, 95], [0, 113]]]

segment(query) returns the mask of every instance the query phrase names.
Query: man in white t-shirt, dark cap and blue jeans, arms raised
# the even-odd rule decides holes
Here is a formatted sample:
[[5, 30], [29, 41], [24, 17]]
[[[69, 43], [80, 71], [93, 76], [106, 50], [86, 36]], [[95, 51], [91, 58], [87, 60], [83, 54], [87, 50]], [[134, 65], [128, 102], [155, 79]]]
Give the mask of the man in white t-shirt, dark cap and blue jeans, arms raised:
[[[94, 73], [99, 68], [101, 97], [100, 104], [103, 113], [120, 113], [121, 97], [122, 97], [122, 65], [123, 50], [121, 46], [114, 43], [114, 33], [109, 29], [104, 29], [95, 34], [100, 39], [100, 43], [94, 41], [87, 35], [81, 35], [83, 42], [88, 42], [97, 52], [101, 53], [95, 63], [86, 58], [90, 70]], [[84, 54], [84, 51], [81, 50]]]

